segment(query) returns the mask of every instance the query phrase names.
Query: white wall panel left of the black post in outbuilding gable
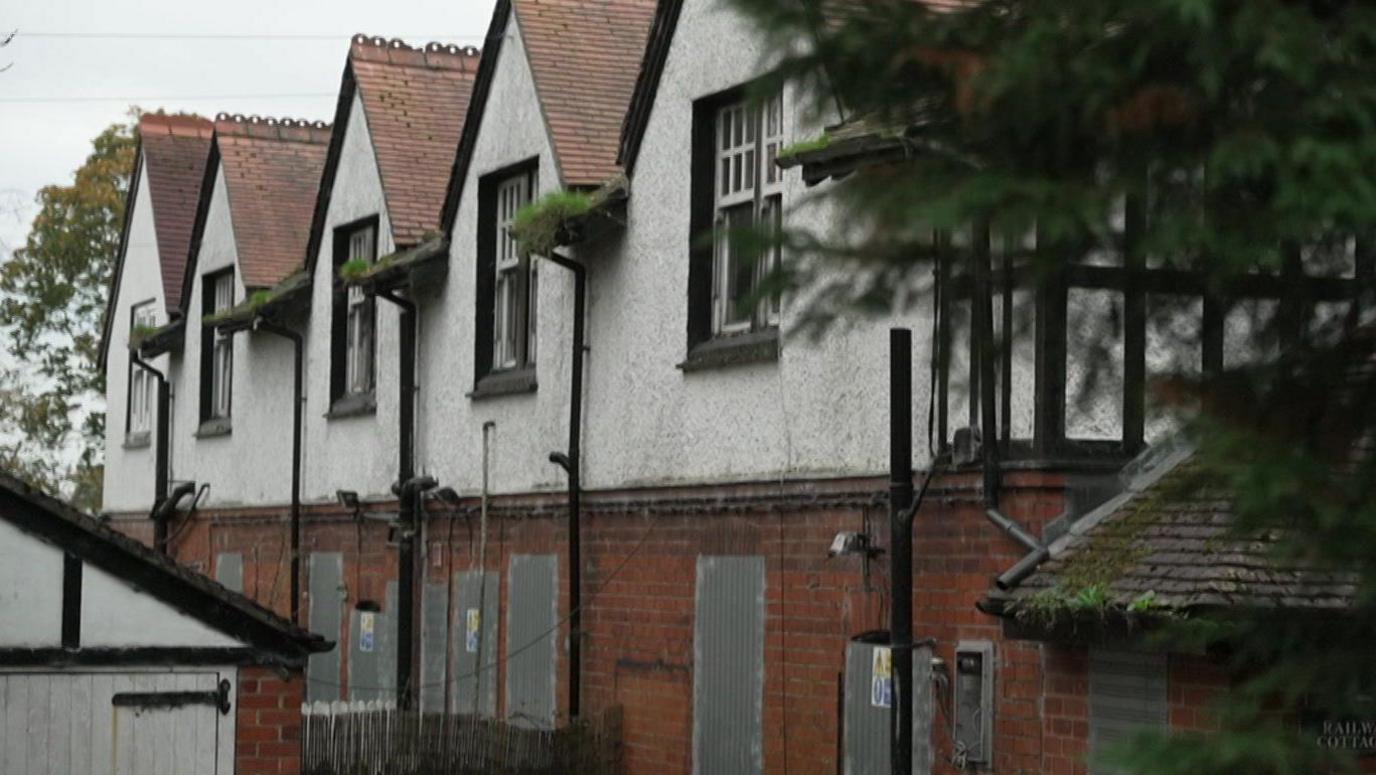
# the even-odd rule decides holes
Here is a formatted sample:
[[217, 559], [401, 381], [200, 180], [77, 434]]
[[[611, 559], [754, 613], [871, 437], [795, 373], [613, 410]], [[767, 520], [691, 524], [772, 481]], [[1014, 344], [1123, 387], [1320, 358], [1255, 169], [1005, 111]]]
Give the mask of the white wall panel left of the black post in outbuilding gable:
[[62, 644], [62, 551], [0, 520], [0, 648]]

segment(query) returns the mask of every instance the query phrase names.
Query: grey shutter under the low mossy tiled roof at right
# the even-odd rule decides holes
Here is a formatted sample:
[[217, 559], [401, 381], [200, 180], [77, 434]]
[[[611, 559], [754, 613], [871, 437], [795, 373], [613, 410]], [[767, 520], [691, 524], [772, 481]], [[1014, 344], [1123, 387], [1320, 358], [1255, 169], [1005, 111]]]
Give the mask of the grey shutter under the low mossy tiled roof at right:
[[1090, 775], [1116, 775], [1097, 758], [1143, 728], [1170, 723], [1164, 654], [1090, 651]]

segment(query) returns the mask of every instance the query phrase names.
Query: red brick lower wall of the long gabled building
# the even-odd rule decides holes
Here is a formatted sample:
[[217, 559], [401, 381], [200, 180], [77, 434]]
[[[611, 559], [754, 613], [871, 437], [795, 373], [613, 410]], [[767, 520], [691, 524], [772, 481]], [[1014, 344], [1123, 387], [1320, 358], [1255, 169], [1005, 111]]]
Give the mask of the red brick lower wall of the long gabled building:
[[[583, 518], [583, 710], [622, 706], [627, 772], [692, 769], [694, 602], [699, 555], [758, 555], [766, 566], [764, 757], [768, 772], [831, 775], [837, 771], [838, 690], [850, 636], [888, 629], [888, 556], [827, 558], [842, 530], [868, 531], [888, 544], [885, 482], [813, 482], [698, 487], [663, 491], [589, 493]], [[782, 498], [782, 500], [780, 500]], [[1024, 472], [1006, 478], [1000, 509], [1028, 530], [1062, 511], [1064, 479]], [[476, 566], [476, 504], [455, 519], [433, 515], [427, 529], [425, 575], [453, 578]], [[387, 511], [387, 505], [373, 507]], [[915, 529], [914, 615], [918, 637], [936, 637], [936, 654], [954, 663], [959, 640], [991, 640], [995, 648], [995, 771], [1084, 772], [1087, 665], [1083, 651], [1007, 640], [998, 619], [976, 608], [992, 578], [1024, 555], [984, 518], [977, 475], [933, 483]], [[213, 573], [219, 552], [244, 556], [245, 592], [278, 613], [289, 610], [283, 509], [202, 512], [173, 541], [179, 559]], [[301, 541], [311, 552], [344, 555], [348, 604], [383, 600], [396, 577], [396, 551], [385, 526], [355, 524], [333, 507], [311, 507]], [[504, 621], [498, 652], [508, 650], [505, 578], [515, 553], [559, 556], [560, 611], [567, 611], [567, 542], [563, 494], [494, 498], [487, 569], [502, 574]], [[303, 563], [303, 589], [310, 588]], [[868, 573], [867, 573], [868, 571]], [[301, 602], [308, 610], [308, 602]], [[455, 629], [455, 632], [458, 632]], [[347, 633], [340, 640], [347, 657]], [[567, 708], [567, 625], [557, 633], [557, 706]], [[341, 659], [344, 662], [344, 659]], [[949, 668], [948, 668], [949, 670]], [[341, 666], [341, 684], [347, 683]], [[1214, 683], [1211, 683], [1214, 681]], [[300, 681], [293, 702], [300, 702]], [[1171, 717], [1203, 724], [1198, 706], [1216, 686], [1207, 663], [1172, 661]], [[498, 673], [498, 709], [505, 675]], [[347, 691], [347, 690], [345, 690]], [[932, 739], [934, 772], [947, 764], [951, 698], [937, 692]], [[294, 709], [294, 705], [293, 705]], [[294, 713], [294, 710], [293, 710]], [[253, 753], [257, 753], [256, 750]], [[288, 754], [294, 756], [294, 754]]]

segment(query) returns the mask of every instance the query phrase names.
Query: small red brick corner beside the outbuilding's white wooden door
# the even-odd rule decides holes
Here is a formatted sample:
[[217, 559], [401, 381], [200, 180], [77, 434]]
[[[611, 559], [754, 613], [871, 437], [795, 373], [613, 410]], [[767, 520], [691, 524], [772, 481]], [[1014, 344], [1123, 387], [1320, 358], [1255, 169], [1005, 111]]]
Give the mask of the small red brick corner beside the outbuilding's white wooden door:
[[234, 710], [235, 775], [286, 775], [301, 771], [300, 675], [282, 677], [266, 668], [239, 669]]

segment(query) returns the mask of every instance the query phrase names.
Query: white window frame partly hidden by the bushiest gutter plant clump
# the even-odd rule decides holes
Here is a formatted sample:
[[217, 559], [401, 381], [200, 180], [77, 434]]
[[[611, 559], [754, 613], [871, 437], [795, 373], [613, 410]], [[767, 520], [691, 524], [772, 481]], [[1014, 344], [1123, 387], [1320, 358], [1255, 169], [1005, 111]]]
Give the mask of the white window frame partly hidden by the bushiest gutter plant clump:
[[535, 362], [535, 299], [539, 290], [534, 256], [512, 234], [516, 213], [534, 194], [535, 176], [522, 171], [497, 183], [495, 255], [493, 256], [494, 372]]

